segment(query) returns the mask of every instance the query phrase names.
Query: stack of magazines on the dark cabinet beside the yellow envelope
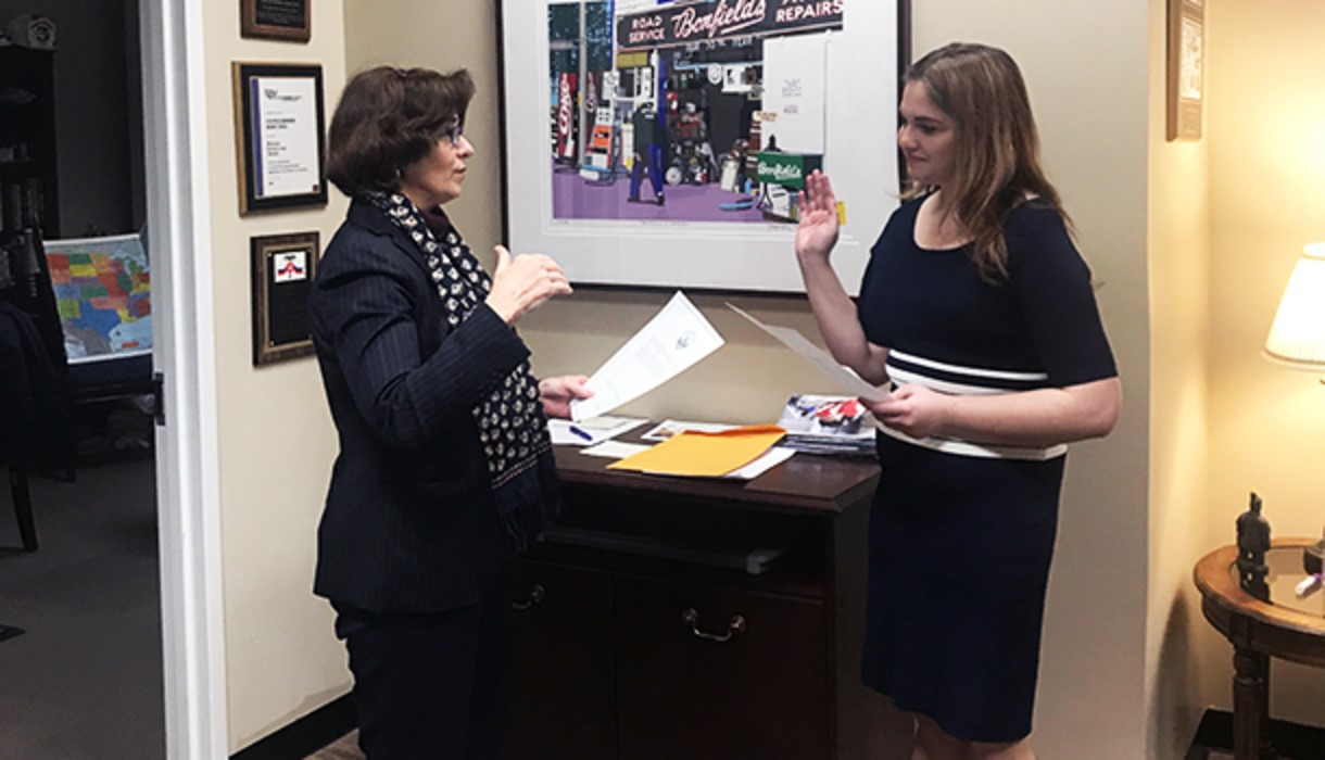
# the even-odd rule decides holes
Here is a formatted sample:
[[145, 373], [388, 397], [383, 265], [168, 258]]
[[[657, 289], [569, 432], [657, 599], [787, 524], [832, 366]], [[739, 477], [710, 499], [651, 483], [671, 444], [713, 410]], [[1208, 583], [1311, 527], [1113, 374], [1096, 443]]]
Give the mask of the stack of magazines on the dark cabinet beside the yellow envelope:
[[874, 425], [860, 399], [796, 393], [787, 399], [778, 425], [787, 430], [782, 445], [810, 454], [869, 457]]

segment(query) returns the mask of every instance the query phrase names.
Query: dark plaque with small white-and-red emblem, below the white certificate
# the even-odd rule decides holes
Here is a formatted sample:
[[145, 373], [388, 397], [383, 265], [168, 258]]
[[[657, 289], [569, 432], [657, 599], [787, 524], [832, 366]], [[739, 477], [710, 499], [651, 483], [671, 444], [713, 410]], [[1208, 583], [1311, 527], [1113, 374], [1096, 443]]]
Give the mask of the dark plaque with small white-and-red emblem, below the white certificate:
[[253, 364], [313, 354], [309, 289], [318, 267], [318, 233], [249, 240], [253, 281]]

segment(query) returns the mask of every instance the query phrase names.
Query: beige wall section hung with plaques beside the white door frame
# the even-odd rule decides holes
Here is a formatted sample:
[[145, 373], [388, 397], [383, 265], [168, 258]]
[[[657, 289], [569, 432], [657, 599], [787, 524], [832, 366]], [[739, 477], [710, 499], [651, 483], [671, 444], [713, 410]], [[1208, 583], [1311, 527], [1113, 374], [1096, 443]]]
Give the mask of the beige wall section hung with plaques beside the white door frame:
[[310, 593], [314, 531], [335, 453], [321, 380], [311, 359], [254, 368], [249, 316], [249, 237], [317, 230], [326, 245], [343, 203], [240, 217], [231, 62], [321, 64], [331, 98], [343, 83], [344, 34], [339, 0], [317, 4], [307, 45], [241, 40], [233, 4], [208, 3], [204, 13], [233, 752], [321, 707], [346, 678], [329, 608]]

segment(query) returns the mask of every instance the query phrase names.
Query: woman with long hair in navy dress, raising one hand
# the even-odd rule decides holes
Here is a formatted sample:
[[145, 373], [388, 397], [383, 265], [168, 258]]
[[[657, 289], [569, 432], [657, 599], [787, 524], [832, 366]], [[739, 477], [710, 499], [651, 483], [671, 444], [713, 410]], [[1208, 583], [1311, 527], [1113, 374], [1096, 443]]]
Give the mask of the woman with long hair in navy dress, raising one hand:
[[934, 50], [900, 111], [910, 188], [859, 302], [829, 263], [822, 173], [796, 232], [828, 348], [893, 388], [867, 403], [882, 474], [863, 674], [889, 757], [1024, 760], [1067, 444], [1113, 429], [1120, 383], [1012, 58]]

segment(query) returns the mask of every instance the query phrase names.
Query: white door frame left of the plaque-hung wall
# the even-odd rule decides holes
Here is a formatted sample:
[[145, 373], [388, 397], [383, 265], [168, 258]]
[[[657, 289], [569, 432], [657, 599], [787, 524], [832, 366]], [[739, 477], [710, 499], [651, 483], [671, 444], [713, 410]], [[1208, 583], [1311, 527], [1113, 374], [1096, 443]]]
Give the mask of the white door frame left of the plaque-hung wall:
[[164, 373], [156, 432], [166, 756], [229, 756], [221, 598], [216, 351], [203, 0], [143, 0], [152, 354]]

